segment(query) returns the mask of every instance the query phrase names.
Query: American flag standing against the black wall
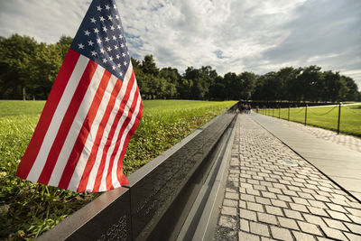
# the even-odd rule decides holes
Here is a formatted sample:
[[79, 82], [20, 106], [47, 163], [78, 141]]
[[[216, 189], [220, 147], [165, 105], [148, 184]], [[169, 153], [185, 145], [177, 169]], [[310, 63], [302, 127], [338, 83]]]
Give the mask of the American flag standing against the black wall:
[[94, 0], [16, 175], [66, 190], [121, 187], [128, 183], [125, 149], [142, 113], [115, 0]]

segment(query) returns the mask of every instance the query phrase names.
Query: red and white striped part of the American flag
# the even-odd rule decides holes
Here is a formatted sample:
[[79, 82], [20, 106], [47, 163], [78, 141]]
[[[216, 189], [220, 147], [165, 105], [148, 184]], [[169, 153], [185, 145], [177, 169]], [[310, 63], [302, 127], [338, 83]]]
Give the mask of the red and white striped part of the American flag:
[[125, 185], [125, 149], [142, 112], [131, 64], [122, 82], [69, 50], [16, 175], [77, 191]]

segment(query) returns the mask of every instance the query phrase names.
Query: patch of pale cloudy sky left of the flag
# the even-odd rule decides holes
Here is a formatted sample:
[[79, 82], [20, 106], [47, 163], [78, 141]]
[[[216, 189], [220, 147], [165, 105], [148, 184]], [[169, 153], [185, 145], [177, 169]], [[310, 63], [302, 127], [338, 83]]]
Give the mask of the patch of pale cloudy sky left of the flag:
[[0, 32], [26, 34], [40, 42], [74, 36], [88, 5], [82, 1], [12, 0], [0, 2]]

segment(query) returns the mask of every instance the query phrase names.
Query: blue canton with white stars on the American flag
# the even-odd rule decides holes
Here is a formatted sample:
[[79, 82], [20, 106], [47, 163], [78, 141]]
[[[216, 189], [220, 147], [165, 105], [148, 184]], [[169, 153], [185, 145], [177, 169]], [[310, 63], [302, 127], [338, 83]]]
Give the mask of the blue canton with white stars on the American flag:
[[130, 63], [123, 26], [114, 0], [94, 0], [70, 49], [124, 79]]

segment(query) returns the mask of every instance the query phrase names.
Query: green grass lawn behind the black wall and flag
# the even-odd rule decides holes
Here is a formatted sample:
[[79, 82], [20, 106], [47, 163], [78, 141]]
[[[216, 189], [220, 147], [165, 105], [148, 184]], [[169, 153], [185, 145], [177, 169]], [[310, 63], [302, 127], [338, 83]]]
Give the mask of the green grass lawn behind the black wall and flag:
[[[144, 100], [143, 118], [125, 154], [129, 175], [236, 101]], [[45, 101], [0, 100], [0, 239], [32, 239], [98, 194], [77, 193], [15, 177]]]

